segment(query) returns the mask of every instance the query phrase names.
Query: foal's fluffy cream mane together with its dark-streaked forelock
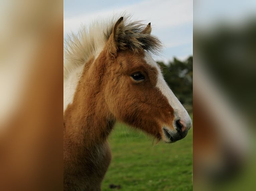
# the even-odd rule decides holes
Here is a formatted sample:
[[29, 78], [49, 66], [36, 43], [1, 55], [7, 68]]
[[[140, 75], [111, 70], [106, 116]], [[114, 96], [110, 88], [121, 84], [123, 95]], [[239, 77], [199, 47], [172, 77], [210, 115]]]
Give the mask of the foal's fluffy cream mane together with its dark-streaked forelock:
[[[89, 27], [82, 25], [77, 35], [73, 32], [67, 35], [64, 45], [64, 79], [67, 79], [77, 67], [85, 64], [90, 57], [100, 53], [117, 20], [118, 16], [109, 20], [94, 21]], [[132, 52], [143, 49], [158, 54], [162, 44], [157, 37], [142, 33], [146, 26], [141, 21], [132, 21], [130, 16], [124, 17], [124, 27], [119, 33], [118, 48], [130, 49]]]

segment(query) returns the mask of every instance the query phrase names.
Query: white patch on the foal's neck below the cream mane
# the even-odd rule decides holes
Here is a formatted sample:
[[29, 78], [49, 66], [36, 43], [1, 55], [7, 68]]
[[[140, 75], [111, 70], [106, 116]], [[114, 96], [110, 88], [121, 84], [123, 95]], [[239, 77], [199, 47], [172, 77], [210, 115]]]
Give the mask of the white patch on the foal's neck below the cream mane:
[[72, 74], [70, 74], [69, 77], [63, 81], [63, 112], [65, 112], [67, 106], [73, 102], [84, 66], [85, 65], [81, 65], [77, 67], [76, 70], [74, 70]]

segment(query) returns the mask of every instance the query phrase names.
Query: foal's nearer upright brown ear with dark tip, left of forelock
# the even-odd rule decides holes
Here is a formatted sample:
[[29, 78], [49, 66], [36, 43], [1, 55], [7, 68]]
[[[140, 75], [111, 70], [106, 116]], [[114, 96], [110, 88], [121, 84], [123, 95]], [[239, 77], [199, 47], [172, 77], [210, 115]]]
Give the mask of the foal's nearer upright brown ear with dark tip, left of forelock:
[[110, 35], [109, 42], [109, 52], [111, 55], [115, 56], [118, 51], [120, 35], [124, 32], [124, 21], [123, 17], [120, 17], [118, 21], [115, 23], [112, 33]]

